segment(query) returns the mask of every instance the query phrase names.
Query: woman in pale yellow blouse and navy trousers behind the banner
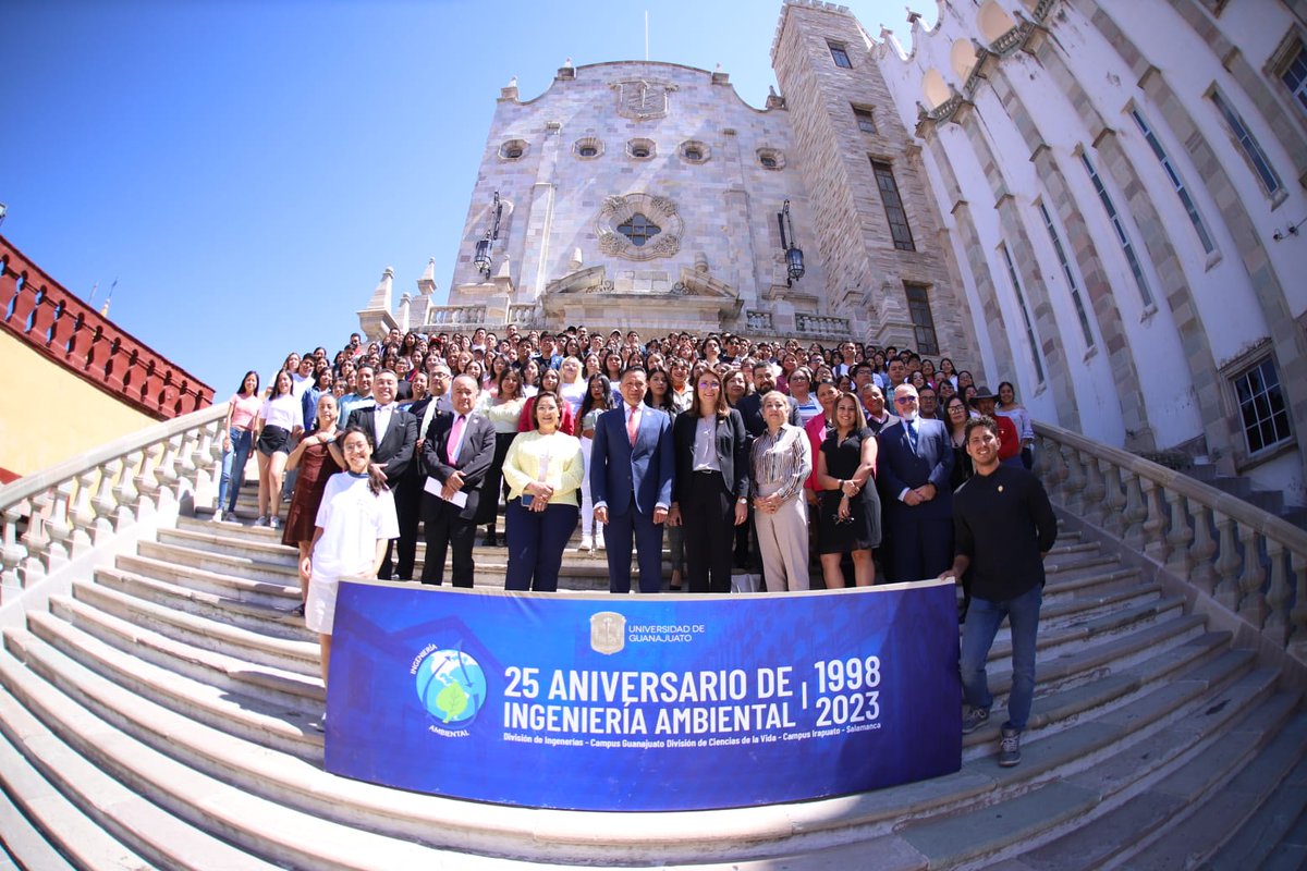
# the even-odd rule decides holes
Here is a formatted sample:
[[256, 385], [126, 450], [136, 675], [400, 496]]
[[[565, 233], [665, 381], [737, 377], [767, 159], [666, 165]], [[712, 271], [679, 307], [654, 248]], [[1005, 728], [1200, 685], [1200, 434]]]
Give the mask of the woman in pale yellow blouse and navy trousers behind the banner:
[[580, 440], [559, 428], [562, 404], [537, 393], [536, 428], [512, 440], [503, 460], [508, 484], [506, 590], [554, 593], [563, 548], [576, 529], [578, 491], [586, 475]]

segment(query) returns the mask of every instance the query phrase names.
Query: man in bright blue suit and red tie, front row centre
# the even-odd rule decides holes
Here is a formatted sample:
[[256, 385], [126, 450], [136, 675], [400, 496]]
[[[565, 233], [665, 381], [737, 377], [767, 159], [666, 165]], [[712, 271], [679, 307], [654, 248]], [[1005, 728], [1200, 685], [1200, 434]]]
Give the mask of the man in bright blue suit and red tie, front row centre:
[[640, 593], [663, 589], [663, 522], [672, 504], [676, 456], [672, 419], [644, 405], [648, 375], [622, 372], [622, 405], [599, 415], [589, 454], [595, 520], [604, 524], [608, 589], [631, 592], [631, 539], [640, 567]]

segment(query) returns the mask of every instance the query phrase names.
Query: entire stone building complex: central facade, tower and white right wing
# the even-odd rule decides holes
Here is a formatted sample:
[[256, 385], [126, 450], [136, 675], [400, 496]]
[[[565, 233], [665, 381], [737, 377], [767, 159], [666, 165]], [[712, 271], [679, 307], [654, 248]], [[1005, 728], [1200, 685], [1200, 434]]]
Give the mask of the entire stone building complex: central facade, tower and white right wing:
[[1302, 4], [942, 0], [910, 21], [911, 54], [789, 0], [761, 110], [663, 63], [510, 85], [448, 304], [429, 265], [395, 313], [387, 274], [363, 328], [851, 334], [1300, 503]]

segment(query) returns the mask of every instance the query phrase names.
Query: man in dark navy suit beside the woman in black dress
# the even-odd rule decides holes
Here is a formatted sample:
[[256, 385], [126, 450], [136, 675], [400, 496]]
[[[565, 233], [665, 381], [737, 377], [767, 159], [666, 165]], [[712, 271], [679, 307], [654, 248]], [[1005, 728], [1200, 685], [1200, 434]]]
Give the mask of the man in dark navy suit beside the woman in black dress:
[[894, 542], [891, 581], [937, 577], [953, 562], [953, 441], [942, 420], [918, 415], [916, 388], [894, 389], [898, 420], [877, 441], [877, 483]]

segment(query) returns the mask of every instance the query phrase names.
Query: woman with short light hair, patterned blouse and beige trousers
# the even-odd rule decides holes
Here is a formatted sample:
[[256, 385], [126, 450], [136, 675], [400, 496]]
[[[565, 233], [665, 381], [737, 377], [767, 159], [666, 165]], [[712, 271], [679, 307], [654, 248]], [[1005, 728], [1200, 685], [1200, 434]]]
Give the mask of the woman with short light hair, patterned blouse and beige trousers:
[[804, 483], [813, 470], [808, 434], [791, 424], [789, 397], [771, 390], [762, 397], [766, 431], [754, 439], [750, 488], [754, 525], [769, 593], [806, 590], [808, 503]]

